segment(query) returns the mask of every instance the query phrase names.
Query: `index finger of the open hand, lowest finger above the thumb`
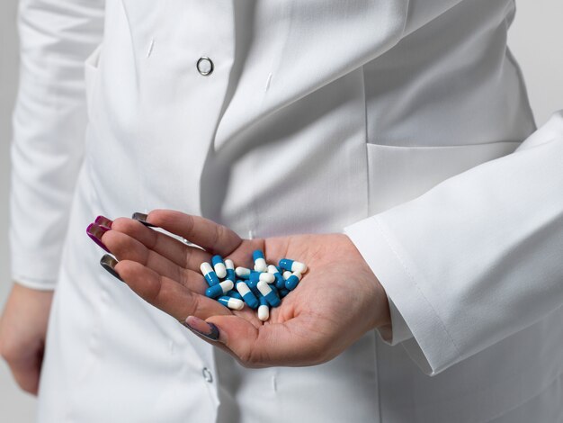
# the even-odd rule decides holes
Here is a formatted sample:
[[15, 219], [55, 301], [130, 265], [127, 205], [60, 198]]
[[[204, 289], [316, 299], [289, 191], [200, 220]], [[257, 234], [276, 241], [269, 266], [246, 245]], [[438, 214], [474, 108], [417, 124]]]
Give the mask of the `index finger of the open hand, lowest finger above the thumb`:
[[187, 316], [207, 319], [214, 315], [229, 314], [219, 302], [194, 293], [173, 279], [157, 274], [153, 269], [136, 261], [122, 260], [115, 266], [130, 289], [156, 308], [183, 321]]

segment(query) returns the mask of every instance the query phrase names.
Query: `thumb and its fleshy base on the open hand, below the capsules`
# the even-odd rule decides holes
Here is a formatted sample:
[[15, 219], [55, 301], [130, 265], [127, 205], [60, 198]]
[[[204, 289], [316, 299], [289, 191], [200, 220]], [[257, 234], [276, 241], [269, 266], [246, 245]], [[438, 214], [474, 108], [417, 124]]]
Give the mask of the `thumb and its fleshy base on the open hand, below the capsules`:
[[213, 316], [206, 322], [217, 328], [219, 342], [242, 365], [317, 365], [332, 358], [327, 353], [330, 348], [323, 347], [325, 340], [309, 329], [307, 318], [258, 327], [236, 315]]

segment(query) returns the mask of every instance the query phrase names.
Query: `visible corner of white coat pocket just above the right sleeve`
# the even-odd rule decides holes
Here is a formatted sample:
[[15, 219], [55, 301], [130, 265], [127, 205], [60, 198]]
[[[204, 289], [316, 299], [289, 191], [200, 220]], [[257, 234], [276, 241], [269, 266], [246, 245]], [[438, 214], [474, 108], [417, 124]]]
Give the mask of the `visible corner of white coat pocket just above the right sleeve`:
[[521, 141], [440, 147], [366, 144], [370, 214], [413, 200], [451, 176], [512, 153]]

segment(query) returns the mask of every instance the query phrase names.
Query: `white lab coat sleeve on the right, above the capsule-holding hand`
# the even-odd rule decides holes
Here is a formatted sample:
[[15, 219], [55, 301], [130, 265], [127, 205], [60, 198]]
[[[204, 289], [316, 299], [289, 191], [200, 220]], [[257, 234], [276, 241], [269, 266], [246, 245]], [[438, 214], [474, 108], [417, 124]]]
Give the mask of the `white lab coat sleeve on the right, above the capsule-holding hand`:
[[531, 326], [563, 305], [563, 111], [514, 153], [345, 232], [426, 374]]

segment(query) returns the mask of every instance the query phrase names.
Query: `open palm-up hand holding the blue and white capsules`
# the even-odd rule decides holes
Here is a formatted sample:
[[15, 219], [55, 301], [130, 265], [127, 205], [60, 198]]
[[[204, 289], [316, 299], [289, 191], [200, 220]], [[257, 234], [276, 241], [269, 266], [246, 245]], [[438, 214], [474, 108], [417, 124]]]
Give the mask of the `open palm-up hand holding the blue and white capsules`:
[[[389, 324], [387, 296], [345, 235], [241, 239], [210, 220], [168, 210], [151, 211], [147, 222], [203, 249], [119, 218], [101, 236], [119, 260], [114, 270], [140, 297], [177, 320], [187, 317], [196, 334], [243, 365], [317, 365], [368, 330]], [[289, 257], [308, 265], [296, 290], [266, 322], [247, 307], [230, 311], [202, 295], [208, 287], [199, 273], [203, 261], [219, 254], [236, 266], [251, 267], [255, 249], [264, 250], [269, 263]]]

